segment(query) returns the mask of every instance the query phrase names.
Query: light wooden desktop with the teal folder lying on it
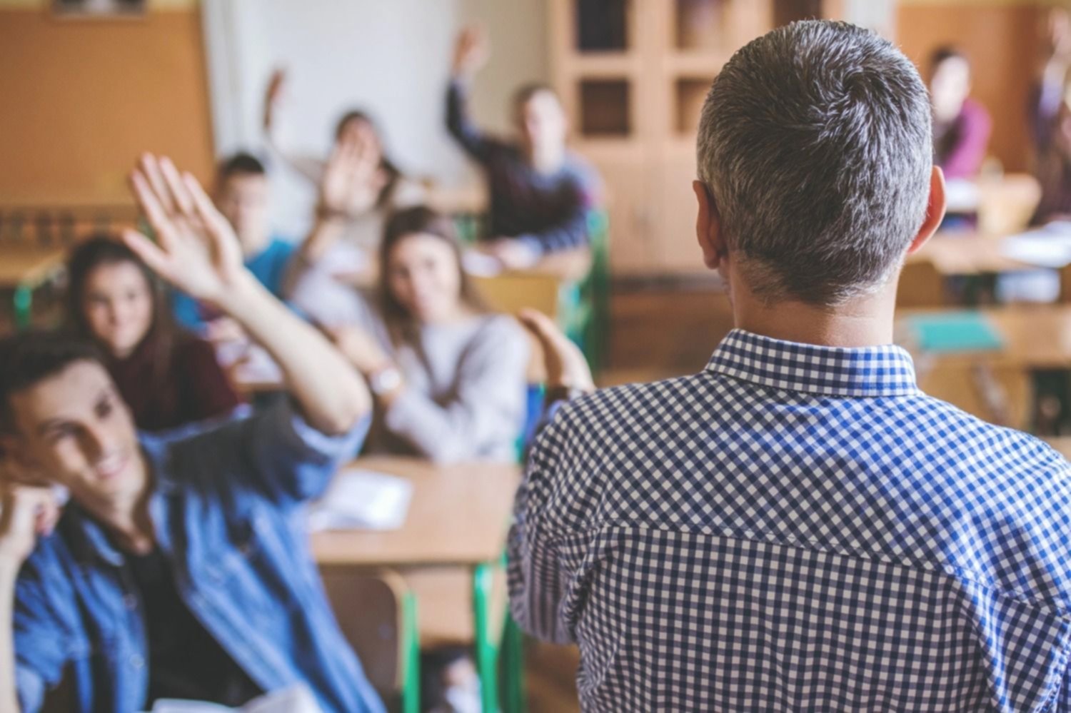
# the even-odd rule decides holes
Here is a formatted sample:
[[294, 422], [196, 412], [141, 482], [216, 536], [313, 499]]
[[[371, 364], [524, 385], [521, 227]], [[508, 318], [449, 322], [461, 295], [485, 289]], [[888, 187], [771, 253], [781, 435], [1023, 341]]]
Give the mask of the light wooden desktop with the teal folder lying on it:
[[[911, 315], [933, 314], [934, 309], [905, 309], [899, 320]], [[1004, 340], [993, 351], [925, 353], [911, 350], [926, 360], [990, 362], [1026, 369], [1071, 368], [1071, 305], [1008, 305], [982, 309]], [[908, 346], [908, 345], [905, 345]]]

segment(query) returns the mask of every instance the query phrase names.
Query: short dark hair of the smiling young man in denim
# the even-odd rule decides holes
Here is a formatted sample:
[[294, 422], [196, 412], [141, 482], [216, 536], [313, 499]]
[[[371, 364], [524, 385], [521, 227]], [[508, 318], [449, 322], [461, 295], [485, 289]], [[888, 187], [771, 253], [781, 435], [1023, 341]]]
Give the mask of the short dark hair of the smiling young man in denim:
[[31, 331], [0, 338], [0, 435], [16, 431], [12, 395], [76, 362], [103, 364], [92, 344], [64, 333]]

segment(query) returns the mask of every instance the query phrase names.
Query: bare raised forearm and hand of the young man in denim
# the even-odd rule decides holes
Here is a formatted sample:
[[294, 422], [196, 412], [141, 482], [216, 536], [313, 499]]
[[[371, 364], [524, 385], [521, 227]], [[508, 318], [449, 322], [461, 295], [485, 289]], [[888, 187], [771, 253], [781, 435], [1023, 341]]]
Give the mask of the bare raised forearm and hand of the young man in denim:
[[170, 160], [147, 154], [131, 184], [159, 243], [127, 230], [126, 244], [164, 279], [218, 307], [267, 349], [310, 425], [340, 435], [369, 412], [364, 382], [245, 269], [230, 224], [192, 175], [180, 176]]

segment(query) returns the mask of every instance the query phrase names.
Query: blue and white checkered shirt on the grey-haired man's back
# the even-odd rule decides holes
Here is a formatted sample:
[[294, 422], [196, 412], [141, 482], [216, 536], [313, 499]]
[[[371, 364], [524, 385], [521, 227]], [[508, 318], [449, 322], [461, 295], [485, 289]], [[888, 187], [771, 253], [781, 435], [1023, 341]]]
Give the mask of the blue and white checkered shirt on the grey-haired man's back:
[[512, 610], [586, 711], [1071, 711], [1071, 469], [897, 347], [740, 330], [540, 436]]

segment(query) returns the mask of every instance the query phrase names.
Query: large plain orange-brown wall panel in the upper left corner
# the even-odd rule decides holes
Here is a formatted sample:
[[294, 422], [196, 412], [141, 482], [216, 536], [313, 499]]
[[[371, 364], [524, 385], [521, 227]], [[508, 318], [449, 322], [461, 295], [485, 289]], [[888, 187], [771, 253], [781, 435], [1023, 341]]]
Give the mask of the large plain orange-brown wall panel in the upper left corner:
[[0, 2], [0, 207], [127, 203], [139, 151], [210, 172], [199, 15], [192, 1], [137, 19], [58, 19]]

